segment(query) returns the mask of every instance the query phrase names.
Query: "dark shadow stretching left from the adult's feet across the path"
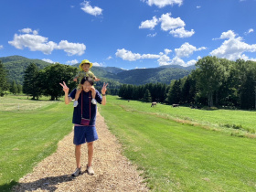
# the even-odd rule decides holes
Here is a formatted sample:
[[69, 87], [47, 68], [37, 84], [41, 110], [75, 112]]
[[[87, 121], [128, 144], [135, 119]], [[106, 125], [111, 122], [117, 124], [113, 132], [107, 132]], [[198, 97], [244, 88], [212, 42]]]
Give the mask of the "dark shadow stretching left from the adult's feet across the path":
[[[82, 173], [84, 174], [84, 173]], [[5, 184], [0, 186], [1, 192], [9, 192], [9, 191], [34, 191], [37, 189], [47, 190], [47, 191], [55, 191], [58, 187], [55, 187], [59, 183], [69, 182], [74, 180], [76, 177], [71, 175], [64, 176], [48, 176], [44, 178], [40, 178], [37, 181], [29, 182], [29, 183], [18, 183], [16, 181], [12, 181], [9, 184]]]

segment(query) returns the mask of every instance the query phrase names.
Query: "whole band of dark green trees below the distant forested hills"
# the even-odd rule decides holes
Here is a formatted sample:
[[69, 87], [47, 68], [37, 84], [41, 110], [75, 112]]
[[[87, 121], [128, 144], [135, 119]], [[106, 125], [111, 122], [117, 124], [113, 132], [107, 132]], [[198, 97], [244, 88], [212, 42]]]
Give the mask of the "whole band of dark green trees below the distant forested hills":
[[[59, 100], [63, 96], [59, 80], [65, 81], [70, 89], [74, 89], [76, 83], [72, 78], [77, 72], [78, 68], [59, 63], [48, 65], [44, 69], [30, 63], [21, 86], [16, 84], [16, 80], [8, 83], [7, 70], [0, 61], [0, 94], [4, 96], [7, 90], [14, 94], [23, 91], [32, 99], [45, 95], [50, 100]], [[149, 74], [144, 75], [147, 76]], [[192, 69], [187, 76], [171, 80], [169, 84], [153, 80], [144, 85], [134, 85], [101, 78], [95, 85], [96, 89], [101, 90], [103, 82], [109, 83], [108, 94], [119, 95], [125, 100], [176, 103], [197, 108], [256, 109], [256, 62], [251, 60], [232, 61], [208, 56], [199, 59], [196, 69]]]

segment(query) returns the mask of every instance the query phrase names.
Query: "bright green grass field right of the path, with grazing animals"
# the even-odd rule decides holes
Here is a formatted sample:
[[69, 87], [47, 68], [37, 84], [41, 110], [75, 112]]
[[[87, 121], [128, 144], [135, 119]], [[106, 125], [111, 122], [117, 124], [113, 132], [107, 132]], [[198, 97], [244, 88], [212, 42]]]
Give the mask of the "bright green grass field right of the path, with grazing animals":
[[100, 112], [153, 190], [256, 191], [255, 112], [151, 108], [113, 96]]

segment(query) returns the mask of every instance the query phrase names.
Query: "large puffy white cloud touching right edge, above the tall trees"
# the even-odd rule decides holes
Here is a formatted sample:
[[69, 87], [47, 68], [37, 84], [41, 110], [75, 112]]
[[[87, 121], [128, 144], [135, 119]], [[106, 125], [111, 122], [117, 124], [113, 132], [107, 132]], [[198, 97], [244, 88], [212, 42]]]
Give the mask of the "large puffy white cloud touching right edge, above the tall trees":
[[218, 58], [236, 60], [245, 58], [244, 52], [256, 52], [256, 44], [249, 45], [243, 42], [242, 37], [237, 37], [232, 30], [223, 32], [219, 39], [226, 39], [219, 48], [210, 52], [210, 55]]

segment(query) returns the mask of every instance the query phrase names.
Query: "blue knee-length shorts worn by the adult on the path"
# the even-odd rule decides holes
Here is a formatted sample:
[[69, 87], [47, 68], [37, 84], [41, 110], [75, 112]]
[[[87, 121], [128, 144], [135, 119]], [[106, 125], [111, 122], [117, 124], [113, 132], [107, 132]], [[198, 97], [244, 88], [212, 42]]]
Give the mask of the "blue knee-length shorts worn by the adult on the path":
[[75, 126], [73, 144], [80, 145], [94, 142], [98, 139], [95, 126]]

